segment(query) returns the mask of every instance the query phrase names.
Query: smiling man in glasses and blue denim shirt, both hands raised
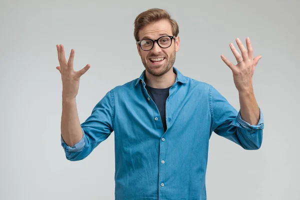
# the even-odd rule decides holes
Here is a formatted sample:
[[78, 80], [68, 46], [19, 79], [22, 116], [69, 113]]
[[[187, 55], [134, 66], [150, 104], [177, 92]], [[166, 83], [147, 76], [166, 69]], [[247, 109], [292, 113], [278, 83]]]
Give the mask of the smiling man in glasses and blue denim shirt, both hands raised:
[[263, 115], [253, 94], [258, 59], [236, 40], [230, 44], [240, 110], [210, 84], [184, 76], [173, 66], [179, 50], [178, 25], [162, 9], [140, 13], [134, 22], [137, 51], [145, 70], [139, 78], [108, 91], [91, 115], [79, 123], [75, 97], [79, 77], [89, 65], [73, 70], [57, 45], [61, 73], [61, 145], [68, 160], [85, 158], [114, 131], [115, 199], [206, 199], [205, 172], [212, 131], [244, 149], [258, 149]]

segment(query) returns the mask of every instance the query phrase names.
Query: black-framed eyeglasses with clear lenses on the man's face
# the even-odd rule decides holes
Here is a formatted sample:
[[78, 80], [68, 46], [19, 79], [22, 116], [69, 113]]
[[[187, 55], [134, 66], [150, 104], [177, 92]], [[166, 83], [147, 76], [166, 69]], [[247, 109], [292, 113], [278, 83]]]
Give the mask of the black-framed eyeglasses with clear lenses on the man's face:
[[136, 41], [136, 43], [139, 45], [139, 47], [142, 50], [151, 50], [154, 46], [154, 42], [156, 41], [158, 46], [161, 48], [167, 48], [172, 44], [172, 39], [175, 39], [175, 35], [173, 36], [161, 36], [158, 39], [142, 39], [139, 41]]

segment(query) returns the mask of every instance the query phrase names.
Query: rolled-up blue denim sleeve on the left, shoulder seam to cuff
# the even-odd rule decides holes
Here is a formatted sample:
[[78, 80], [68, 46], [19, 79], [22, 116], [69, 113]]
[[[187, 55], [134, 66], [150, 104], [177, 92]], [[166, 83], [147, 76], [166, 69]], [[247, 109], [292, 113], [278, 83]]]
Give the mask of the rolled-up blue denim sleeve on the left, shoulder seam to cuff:
[[94, 106], [90, 116], [80, 124], [83, 135], [74, 146], [68, 146], [60, 134], [61, 146], [66, 158], [76, 161], [89, 155], [113, 131], [113, 116], [114, 96], [113, 89], [111, 89]]

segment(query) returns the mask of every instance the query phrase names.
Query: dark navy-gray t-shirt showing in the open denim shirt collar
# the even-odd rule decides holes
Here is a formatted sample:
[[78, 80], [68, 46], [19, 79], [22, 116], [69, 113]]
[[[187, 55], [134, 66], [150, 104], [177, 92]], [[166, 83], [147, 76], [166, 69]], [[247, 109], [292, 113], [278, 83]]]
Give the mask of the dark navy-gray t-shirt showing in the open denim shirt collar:
[[152, 98], [152, 100], [155, 102], [158, 110], [159, 110], [159, 114], [160, 114], [160, 118], [161, 118], [161, 122], [162, 122], [162, 126], [164, 129], [164, 132], [166, 130], [166, 122], [165, 122], [165, 100], [167, 99], [168, 95], [169, 95], [169, 87], [166, 88], [154, 88], [154, 87], [150, 87], [148, 85], [145, 85], [145, 88], [148, 91], [148, 94], [150, 95], [150, 97]]

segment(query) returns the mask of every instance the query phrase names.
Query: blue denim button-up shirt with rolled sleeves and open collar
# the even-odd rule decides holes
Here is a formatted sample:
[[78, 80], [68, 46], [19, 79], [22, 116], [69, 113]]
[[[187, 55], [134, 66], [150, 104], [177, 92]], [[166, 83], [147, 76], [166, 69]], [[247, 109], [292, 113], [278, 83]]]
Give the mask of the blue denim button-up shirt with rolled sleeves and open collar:
[[165, 103], [167, 129], [139, 78], [108, 91], [81, 123], [82, 139], [67, 146], [68, 160], [85, 158], [112, 131], [115, 142], [115, 199], [206, 199], [205, 172], [212, 131], [247, 150], [262, 142], [263, 115], [250, 125], [212, 85], [184, 76]]

